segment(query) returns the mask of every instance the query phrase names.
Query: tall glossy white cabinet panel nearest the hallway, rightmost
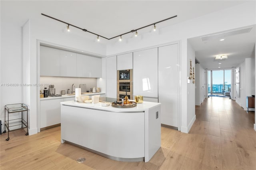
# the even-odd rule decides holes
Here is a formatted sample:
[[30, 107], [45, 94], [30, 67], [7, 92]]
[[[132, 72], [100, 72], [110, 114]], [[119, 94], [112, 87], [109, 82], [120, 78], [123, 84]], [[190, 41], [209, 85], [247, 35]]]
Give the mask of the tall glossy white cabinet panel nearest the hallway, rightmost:
[[178, 44], [158, 48], [158, 67], [161, 123], [178, 127]]

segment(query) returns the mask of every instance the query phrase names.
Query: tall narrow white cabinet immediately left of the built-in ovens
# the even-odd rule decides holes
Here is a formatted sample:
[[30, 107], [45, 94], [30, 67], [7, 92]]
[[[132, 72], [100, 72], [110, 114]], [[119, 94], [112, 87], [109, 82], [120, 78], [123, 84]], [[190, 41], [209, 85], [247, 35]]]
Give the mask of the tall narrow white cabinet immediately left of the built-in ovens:
[[106, 97], [116, 98], [117, 96], [117, 71], [116, 71], [116, 56], [107, 57], [106, 59]]

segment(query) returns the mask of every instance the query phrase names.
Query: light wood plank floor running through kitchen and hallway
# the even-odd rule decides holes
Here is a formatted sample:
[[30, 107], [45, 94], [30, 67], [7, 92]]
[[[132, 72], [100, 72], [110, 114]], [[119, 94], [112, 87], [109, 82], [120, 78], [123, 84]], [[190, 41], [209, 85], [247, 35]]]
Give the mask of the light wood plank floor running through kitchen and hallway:
[[[255, 170], [254, 112], [235, 101], [210, 97], [196, 107], [188, 134], [162, 127], [162, 146], [150, 162], [118, 162], [68, 143], [60, 143], [60, 127], [25, 136], [23, 130], [0, 136], [1, 170]], [[72, 128], [72, 127], [70, 127]], [[125, 147], [125, 146], [124, 146]], [[86, 161], [77, 163], [76, 159]]]

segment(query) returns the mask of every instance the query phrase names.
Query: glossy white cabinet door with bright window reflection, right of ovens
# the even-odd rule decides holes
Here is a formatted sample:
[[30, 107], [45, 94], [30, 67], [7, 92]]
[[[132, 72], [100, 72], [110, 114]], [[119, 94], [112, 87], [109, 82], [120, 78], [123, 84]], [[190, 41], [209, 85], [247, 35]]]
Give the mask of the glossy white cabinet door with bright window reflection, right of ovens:
[[133, 92], [145, 97], [158, 97], [158, 49], [133, 53]]

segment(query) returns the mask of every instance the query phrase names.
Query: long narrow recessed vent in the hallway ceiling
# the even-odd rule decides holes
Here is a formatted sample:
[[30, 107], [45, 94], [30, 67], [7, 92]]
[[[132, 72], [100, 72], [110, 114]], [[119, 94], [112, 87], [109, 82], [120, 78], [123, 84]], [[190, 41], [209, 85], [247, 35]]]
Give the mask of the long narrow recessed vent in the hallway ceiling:
[[214, 39], [224, 38], [227, 36], [234, 36], [234, 35], [238, 35], [238, 34], [248, 33], [251, 30], [252, 30], [252, 27], [243, 28], [240, 30], [233, 30], [233, 31], [222, 32], [222, 33], [218, 33], [218, 34], [212, 34], [209, 36], [203, 36], [203, 37], [201, 37], [201, 39], [202, 39], [202, 41], [214, 40]]

